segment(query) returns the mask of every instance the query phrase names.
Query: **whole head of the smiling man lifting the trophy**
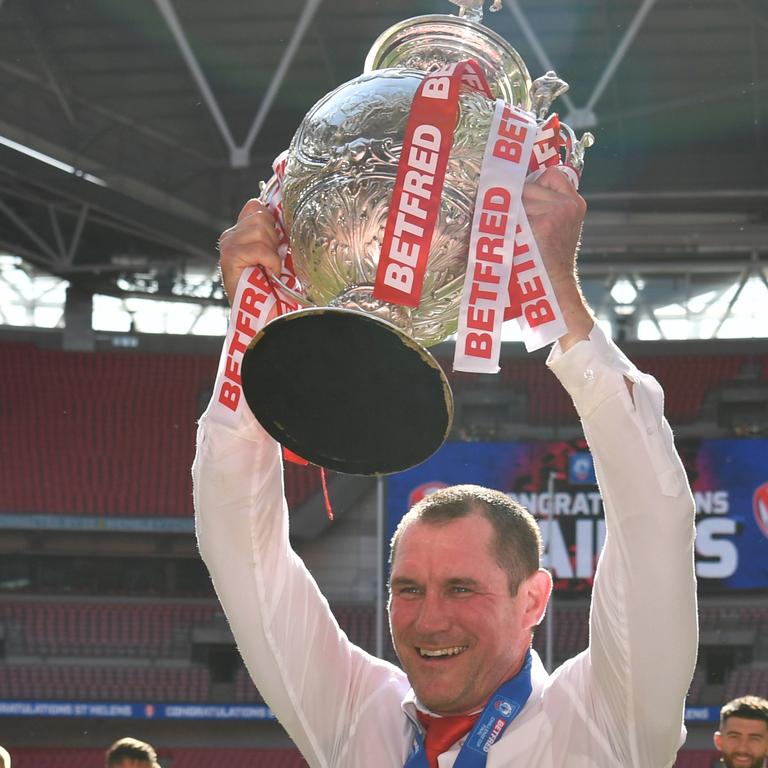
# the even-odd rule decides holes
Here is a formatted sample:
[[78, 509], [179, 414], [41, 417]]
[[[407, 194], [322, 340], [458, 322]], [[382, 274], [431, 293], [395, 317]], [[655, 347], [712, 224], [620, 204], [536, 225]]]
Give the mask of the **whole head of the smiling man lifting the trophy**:
[[552, 580], [534, 518], [503, 493], [443, 488], [414, 505], [390, 547], [389, 622], [422, 704], [479, 709], [520, 668]]

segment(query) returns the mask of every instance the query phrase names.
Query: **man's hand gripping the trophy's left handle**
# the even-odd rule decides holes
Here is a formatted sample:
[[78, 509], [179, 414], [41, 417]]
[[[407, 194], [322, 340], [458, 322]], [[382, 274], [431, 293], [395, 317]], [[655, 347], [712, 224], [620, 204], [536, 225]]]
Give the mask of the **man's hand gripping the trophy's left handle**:
[[237, 217], [237, 224], [221, 233], [219, 268], [224, 292], [230, 303], [235, 298], [237, 282], [246, 267], [262, 266], [271, 275], [279, 275], [277, 232], [270, 210], [255, 198], [249, 200]]

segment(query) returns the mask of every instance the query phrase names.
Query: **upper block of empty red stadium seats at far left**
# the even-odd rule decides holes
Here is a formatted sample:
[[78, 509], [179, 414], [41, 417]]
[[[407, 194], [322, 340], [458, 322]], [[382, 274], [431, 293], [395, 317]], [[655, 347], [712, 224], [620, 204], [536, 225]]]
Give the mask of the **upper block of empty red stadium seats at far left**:
[[[0, 402], [14, 403], [0, 413], [0, 511], [191, 516], [195, 422], [216, 364], [0, 343]], [[42, 483], [25, 471], [40, 464]], [[291, 506], [319, 487], [317, 470], [286, 465]]]

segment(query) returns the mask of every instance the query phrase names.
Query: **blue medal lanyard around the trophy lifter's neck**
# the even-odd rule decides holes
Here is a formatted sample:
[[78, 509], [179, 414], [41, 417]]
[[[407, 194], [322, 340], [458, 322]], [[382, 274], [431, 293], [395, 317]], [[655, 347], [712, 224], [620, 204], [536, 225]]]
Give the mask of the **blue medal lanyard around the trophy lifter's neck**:
[[[488, 699], [453, 768], [482, 768], [491, 745], [520, 714], [531, 695], [531, 690], [531, 652], [528, 651], [523, 668], [511, 680], [502, 683]], [[404, 768], [428, 768], [424, 737], [421, 733], [416, 735], [413, 750]]]

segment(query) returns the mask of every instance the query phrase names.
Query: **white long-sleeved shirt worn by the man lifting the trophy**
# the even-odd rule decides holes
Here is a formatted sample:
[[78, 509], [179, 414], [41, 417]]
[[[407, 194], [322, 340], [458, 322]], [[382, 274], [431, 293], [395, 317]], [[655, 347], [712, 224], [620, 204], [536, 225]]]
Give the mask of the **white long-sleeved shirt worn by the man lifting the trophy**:
[[[607, 536], [589, 648], [551, 676], [534, 654], [533, 692], [487, 766], [668, 768], [697, 622], [694, 503], [663, 393], [597, 326], [566, 353], [555, 345], [547, 364], [581, 416]], [[280, 446], [247, 408], [236, 423], [217, 408], [198, 432], [197, 536], [256, 686], [313, 768], [402, 768], [416, 728], [404, 672], [347, 640], [291, 550]]]

